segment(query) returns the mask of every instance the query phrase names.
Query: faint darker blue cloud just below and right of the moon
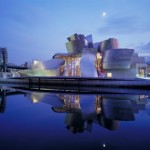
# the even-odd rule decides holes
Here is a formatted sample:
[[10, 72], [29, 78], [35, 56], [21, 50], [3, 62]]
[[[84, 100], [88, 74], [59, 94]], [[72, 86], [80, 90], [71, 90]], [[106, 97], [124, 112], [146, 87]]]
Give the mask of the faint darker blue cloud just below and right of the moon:
[[110, 16], [104, 20], [104, 25], [98, 29], [101, 34], [133, 34], [146, 32], [150, 27], [141, 23], [135, 16]]

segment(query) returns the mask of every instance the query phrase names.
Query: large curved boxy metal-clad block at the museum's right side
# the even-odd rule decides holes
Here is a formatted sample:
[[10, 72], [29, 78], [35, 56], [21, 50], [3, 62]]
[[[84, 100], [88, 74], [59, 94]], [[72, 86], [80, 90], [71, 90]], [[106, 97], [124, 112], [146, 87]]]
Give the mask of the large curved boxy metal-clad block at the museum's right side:
[[109, 49], [103, 52], [104, 69], [129, 69], [134, 49]]

